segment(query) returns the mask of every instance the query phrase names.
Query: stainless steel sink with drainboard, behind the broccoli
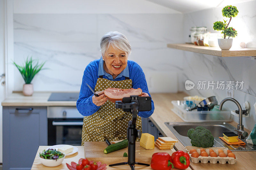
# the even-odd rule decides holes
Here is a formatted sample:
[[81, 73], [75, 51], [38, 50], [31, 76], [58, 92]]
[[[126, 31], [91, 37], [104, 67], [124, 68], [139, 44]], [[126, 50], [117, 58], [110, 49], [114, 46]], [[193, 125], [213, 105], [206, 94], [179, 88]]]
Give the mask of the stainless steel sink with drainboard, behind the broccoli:
[[225, 122], [165, 122], [164, 124], [172, 131], [172, 133], [184, 146], [191, 146], [190, 139], [187, 137], [188, 130], [190, 128], [195, 129], [197, 126], [203, 126], [212, 132], [214, 137], [213, 147], [226, 147], [232, 151], [256, 151], [256, 145], [247, 144], [245, 141], [246, 138], [241, 139], [246, 145], [228, 145], [222, 141], [219, 137], [223, 136], [223, 132], [233, 131], [236, 133], [236, 131], [234, 131], [236, 128]]

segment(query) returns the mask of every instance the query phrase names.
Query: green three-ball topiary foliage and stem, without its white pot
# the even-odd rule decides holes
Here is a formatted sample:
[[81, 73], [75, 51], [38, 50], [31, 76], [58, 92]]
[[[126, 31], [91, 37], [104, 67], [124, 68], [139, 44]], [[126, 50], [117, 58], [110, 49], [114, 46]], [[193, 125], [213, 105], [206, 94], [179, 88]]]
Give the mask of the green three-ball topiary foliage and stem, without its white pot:
[[237, 36], [237, 31], [233, 27], [228, 27], [232, 17], [236, 17], [237, 14], [238, 10], [235, 6], [225, 6], [222, 9], [222, 16], [230, 18], [228, 24], [226, 24], [228, 20], [223, 19], [224, 23], [222, 21], [216, 21], [215, 23], [213, 23], [213, 29], [217, 31], [222, 31], [221, 33], [224, 34], [224, 39], [226, 38], [226, 36], [228, 36], [228, 38]]

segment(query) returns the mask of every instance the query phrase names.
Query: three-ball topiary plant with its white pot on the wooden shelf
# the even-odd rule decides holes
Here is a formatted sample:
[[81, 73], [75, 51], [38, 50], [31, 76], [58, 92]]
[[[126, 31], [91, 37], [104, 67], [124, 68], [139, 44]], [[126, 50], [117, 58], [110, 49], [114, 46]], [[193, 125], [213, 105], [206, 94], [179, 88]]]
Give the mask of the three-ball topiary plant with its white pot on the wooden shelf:
[[238, 10], [236, 9], [235, 6], [225, 6], [222, 9], [222, 16], [229, 18], [228, 24], [228, 20], [223, 20], [224, 22], [216, 21], [215, 23], [213, 23], [213, 29], [221, 31], [221, 33], [224, 34], [223, 39], [218, 39], [219, 46], [222, 50], [229, 50], [233, 43], [233, 39], [230, 39], [229, 37], [235, 38], [237, 36], [237, 31], [233, 27], [228, 27], [232, 17], [236, 17], [237, 14]]

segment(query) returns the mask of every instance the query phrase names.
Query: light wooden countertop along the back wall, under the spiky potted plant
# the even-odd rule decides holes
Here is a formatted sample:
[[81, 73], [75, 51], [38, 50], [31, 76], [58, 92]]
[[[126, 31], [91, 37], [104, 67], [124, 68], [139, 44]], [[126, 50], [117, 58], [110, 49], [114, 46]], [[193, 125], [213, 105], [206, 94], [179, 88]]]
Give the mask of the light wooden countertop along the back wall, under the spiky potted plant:
[[2, 106], [76, 106], [76, 101], [47, 101], [51, 92], [34, 92], [32, 96], [24, 96], [22, 92], [14, 92], [8, 96]]

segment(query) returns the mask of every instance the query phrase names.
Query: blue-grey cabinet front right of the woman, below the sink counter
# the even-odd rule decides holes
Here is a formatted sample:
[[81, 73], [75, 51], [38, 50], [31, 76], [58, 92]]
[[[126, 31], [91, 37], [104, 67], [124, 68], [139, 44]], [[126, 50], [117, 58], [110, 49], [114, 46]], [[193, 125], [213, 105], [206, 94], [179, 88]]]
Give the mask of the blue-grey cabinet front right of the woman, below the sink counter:
[[142, 118], [142, 133], [149, 133], [155, 137], [155, 141], [158, 137], [163, 137], [161, 132], [156, 128], [155, 124], [149, 118]]

